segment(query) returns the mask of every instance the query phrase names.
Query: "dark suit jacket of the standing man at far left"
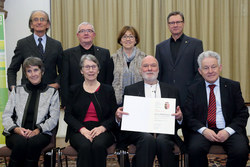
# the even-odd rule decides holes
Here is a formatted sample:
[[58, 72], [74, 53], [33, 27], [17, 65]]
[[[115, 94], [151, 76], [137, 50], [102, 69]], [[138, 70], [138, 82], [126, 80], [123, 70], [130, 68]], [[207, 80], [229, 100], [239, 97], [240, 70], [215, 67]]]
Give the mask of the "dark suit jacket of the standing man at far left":
[[[36, 45], [34, 35], [30, 35], [17, 42], [15, 55], [12, 57], [11, 64], [7, 70], [9, 89], [12, 85], [16, 85], [17, 72], [19, 71], [23, 61], [27, 57], [39, 57], [42, 59], [45, 72], [43, 75], [43, 82], [46, 84], [58, 83], [60, 84], [61, 64], [62, 64], [62, 45], [59, 41], [47, 36], [45, 53], [41, 55]], [[58, 75], [59, 73], [59, 75]], [[21, 83], [27, 83], [27, 79], [22, 73]]]

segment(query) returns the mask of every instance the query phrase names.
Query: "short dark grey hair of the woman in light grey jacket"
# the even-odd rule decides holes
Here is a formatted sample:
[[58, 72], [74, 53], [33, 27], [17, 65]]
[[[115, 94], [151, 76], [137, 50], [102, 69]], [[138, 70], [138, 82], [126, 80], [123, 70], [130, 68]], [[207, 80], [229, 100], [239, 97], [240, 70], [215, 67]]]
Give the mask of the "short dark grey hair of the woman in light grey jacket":
[[26, 74], [26, 69], [30, 66], [38, 66], [42, 72], [45, 71], [43, 61], [38, 57], [28, 57], [23, 62], [23, 72]]

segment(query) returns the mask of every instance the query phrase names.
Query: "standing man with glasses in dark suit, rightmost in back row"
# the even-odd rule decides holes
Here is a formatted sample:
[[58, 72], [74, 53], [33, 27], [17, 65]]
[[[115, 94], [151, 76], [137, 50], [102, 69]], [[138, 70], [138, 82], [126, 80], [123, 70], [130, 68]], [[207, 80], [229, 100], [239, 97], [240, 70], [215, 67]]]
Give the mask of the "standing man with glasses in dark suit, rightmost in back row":
[[179, 89], [181, 104], [185, 102], [187, 88], [198, 74], [197, 57], [203, 51], [202, 41], [183, 33], [184, 15], [171, 12], [167, 17], [171, 37], [156, 46], [160, 82]]

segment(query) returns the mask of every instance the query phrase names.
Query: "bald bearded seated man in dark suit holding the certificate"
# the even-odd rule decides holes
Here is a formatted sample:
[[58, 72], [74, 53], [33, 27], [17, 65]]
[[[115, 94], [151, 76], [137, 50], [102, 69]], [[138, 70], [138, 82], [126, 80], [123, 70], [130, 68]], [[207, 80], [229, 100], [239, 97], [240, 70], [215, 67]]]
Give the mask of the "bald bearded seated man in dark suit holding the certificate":
[[[137, 82], [125, 87], [124, 95], [142, 96], [151, 98], [175, 98], [176, 99], [176, 131], [182, 123], [182, 112], [179, 107], [178, 90], [166, 83], [158, 82], [159, 67], [158, 62], [153, 56], [147, 56], [142, 60], [140, 73], [144, 81]], [[135, 111], [136, 112], [136, 111]], [[116, 120], [121, 122], [123, 112], [120, 107], [116, 111]], [[173, 153], [174, 144], [181, 147], [181, 139], [177, 134], [153, 134], [143, 132], [121, 131], [119, 134], [119, 143], [121, 147], [134, 144], [136, 146], [135, 166], [152, 167], [155, 155], [163, 167], [178, 166], [178, 158]]]

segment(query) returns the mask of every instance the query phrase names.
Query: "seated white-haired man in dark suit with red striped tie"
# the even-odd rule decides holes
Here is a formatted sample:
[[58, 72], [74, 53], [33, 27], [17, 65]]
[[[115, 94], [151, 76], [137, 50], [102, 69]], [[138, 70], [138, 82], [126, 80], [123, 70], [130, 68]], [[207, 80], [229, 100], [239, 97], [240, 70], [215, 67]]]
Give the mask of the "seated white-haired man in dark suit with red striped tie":
[[198, 64], [203, 80], [188, 89], [183, 111], [189, 130], [185, 138], [189, 166], [208, 166], [209, 148], [218, 144], [227, 152], [228, 167], [245, 167], [249, 151], [245, 127], [249, 114], [240, 84], [219, 76], [222, 66], [216, 52], [203, 52]]

